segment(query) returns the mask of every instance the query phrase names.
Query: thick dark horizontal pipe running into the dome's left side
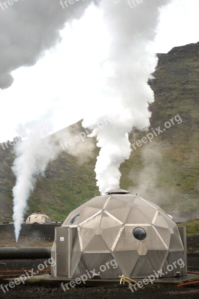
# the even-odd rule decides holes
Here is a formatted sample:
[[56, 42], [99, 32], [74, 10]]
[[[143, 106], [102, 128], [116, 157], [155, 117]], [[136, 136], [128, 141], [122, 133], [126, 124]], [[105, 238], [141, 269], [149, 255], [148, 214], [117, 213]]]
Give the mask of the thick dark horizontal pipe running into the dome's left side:
[[51, 258], [52, 247], [0, 247], [0, 260]]

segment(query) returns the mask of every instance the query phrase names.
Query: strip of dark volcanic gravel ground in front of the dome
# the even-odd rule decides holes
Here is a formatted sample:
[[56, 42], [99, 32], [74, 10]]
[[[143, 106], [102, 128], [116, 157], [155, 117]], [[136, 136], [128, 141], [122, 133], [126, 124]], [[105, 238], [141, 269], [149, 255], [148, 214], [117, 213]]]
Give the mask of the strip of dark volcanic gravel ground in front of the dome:
[[58, 282], [29, 282], [15, 286], [6, 294], [2, 291], [0, 293], [2, 299], [132, 299], [133, 297], [136, 299], [199, 299], [199, 285], [189, 287], [176, 287], [168, 284], [155, 285], [132, 293], [127, 285], [123, 286], [118, 283], [107, 286], [78, 287], [64, 292]]

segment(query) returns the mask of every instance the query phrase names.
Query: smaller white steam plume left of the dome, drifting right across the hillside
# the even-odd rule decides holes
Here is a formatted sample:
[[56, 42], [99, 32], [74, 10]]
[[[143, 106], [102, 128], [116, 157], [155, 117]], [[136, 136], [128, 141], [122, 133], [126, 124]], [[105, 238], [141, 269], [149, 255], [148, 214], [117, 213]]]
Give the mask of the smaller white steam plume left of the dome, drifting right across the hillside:
[[[83, 163], [92, 156], [95, 148], [93, 140], [86, 138], [87, 133], [81, 132], [77, 135], [76, 132], [79, 132], [78, 124], [72, 126], [74, 127], [73, 130], [67, 128], [54, 135], [42, 138], [51, 126], [51, 122], [47, 122], [43, 118], [43, 120], [34, 121], [31, 125], [27, 123], [18, 128], [24, 138], [28, 138], [28, 140], [18, 142], [14, 146], [17, 157], [14, 160], [12, 171], [16, 176], [16, 184], [12, 192], [16, 242], [27, 209], [29, 195], [35, 188], [37, 178], [45, 177], [48, 163], [55, 160], [59, 152], [63, 150], [75, 156], [79, 163]], [[32, 130], [30, 130], [30, 127]], [[75, 143], [77, 139], [78, 142]]]

